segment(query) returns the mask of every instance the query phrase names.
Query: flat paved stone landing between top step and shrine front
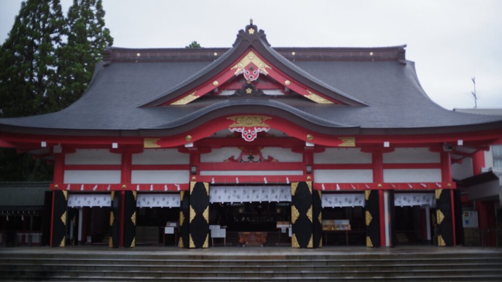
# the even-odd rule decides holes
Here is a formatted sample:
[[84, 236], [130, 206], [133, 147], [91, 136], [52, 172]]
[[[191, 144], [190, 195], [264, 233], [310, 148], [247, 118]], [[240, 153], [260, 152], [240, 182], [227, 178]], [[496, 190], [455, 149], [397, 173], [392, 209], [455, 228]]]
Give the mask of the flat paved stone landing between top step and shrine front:
[[375, 255], [375, 254], [489, 254], [499, 253], [502, 248], [477, 247], [437, 247], [437, 246], [398, 246], [392, 248], [368, 248], [364, 246], [323, 247], [319, 249], [296, 249], [291, 247], [211, 247], [207, 249], [179, 249], [163, 246], [137, 246], [134, 249], [113, 249], [107, 246], [70, 246], [70, 247], [16, 247], [0, 248], [0, 256], [9, 254], [121, 254], [121, 255], [217, 255], [217, 256], [260, 256], [260, 255]]

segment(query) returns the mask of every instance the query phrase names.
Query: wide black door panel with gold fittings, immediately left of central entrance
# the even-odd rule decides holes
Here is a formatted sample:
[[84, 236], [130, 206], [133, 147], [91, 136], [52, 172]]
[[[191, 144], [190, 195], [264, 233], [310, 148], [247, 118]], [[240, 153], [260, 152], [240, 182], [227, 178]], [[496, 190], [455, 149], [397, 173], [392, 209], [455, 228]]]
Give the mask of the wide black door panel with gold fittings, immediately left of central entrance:
[[189, 210], [188, 247], [207, 248], [209, 246], [209, 183], [190, 182]]

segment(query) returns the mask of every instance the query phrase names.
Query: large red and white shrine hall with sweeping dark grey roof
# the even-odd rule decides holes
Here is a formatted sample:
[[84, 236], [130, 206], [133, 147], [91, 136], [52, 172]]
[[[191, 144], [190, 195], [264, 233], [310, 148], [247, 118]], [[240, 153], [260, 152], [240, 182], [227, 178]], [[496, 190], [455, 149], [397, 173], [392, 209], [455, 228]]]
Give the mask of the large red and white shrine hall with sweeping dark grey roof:
[[0, 146], [54, 158], [53, 246], [451, 246], [451, 154], [500, 129], [435, 104], [405, 46], [272, 48], [250, 24], [230, 49], [109, 48], [68, 108], [0, 119]]

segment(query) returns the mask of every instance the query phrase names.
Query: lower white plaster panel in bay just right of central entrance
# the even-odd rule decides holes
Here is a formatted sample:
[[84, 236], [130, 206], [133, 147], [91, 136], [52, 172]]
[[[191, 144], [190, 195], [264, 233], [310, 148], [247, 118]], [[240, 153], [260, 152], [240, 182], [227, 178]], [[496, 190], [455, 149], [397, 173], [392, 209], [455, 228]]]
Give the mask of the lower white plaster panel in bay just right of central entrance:
[[368, 183], [373, 182], [372, 170], [314, 170], [316, 183]]

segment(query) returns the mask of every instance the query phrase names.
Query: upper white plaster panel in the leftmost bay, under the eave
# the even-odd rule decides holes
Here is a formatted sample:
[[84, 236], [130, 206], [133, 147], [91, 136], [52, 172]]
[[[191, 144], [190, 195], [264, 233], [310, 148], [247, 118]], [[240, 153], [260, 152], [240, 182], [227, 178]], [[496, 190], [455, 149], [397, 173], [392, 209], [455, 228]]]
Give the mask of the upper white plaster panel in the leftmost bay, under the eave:
[[120, 165], [122, 155], [110, 153], [108, 149], [77, 149], [65, 155], [66, 165]]

